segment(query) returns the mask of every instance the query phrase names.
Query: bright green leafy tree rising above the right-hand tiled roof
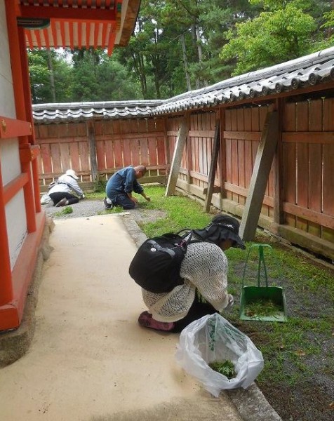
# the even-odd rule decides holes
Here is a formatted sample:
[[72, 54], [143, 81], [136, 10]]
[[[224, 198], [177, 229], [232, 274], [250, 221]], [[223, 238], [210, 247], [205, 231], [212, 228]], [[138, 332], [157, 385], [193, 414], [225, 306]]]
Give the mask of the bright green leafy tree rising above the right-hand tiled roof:
[[[258, 18], [236, 24], [236, 31], [227, 32], [229, 41], [222, 48], [222, 60], [237, 58], [232, 74], [260, 69], [312, 51], [316, 21], [302, 10], [301, 1], [250, 0], [252, 3], [274, 4], [273, 11], [264, 11]], [[305, 1], [309, 7], [309, 1]]]

